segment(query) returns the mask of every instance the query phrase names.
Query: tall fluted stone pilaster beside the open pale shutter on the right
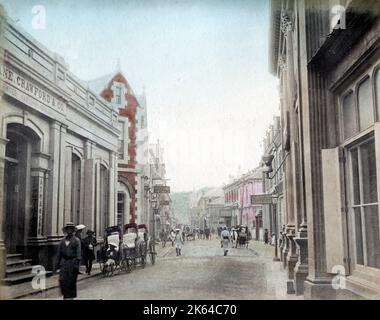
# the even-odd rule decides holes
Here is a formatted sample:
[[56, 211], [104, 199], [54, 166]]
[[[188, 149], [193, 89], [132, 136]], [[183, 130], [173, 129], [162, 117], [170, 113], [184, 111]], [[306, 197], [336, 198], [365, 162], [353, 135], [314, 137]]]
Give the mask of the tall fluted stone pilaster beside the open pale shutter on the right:
[[[315, 6], [313, 9], [309, 6]], [[323, 209], [322, 164], [320, 152], [326, 148], [327, 127], [325, 112], [329, 107], [326, 102], [327, 83], [323, 74], [308, 66], [308, 50], [314, 47], [319, 37], [325, 34], [326, 20], [323, 18], [323, 1], [313, 4], [301, 0], [298, 2], [300, 22], [308, 26], [300, 32], [302, 61], [301, 81], [303, 84], [302, 122], [305, 172], [305, 206], [307, 220], [308, 275], [304, 282], [305, 299], [334, 299], [336, 291], [331, 286], [331, 275], [326, 271], [326, 247]], [[308, 7], [307, 7], [308, 6]], [[308, 13], [306, 14], [306, 10]], [[325, 11], [326, 12], [326, 11]], [[331, 107], [331, 106], [330, 106]], [[331, 129], [331, 128], [330, 128]]]

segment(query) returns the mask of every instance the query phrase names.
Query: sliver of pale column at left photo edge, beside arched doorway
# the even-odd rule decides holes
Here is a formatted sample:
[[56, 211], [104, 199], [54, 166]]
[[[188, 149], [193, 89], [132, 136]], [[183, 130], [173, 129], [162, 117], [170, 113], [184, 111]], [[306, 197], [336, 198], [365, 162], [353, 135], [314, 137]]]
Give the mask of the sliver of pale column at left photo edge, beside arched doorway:
[[5, 223], [4, 212], [4, 170], [5, 170], [5, 148], [9, 140], [0, 137], [0, 279], [5, 276], [6, 249], [4, 243], [3, 224]]

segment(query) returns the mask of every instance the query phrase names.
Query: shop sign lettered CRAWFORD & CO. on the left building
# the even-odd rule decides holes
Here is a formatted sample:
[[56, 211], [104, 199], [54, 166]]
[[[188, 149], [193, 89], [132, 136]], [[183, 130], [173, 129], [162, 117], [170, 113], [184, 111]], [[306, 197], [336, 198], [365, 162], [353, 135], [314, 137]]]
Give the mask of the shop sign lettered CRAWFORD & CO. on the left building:
[[[11, 84], [13, 87], [19, 91], [27, 94], [29, 97], [33, 97], [37, 101], [49, 106], [50, 108], [58, 111], [59, 113], [66, 114], [66, 104], [52, 96], [46, 90], [41, 89], [39, 86], [35, 85], [31, 81], [25, 79], [23, 76], [18, 74], [12, 69], [0, 64], [0, 79], [4, 82]], [[4, 91], [14, 98], [21, 100], [27, 104], [33, 104], [31, 100], [28, 101], [25, 97], [22, 98], [21, 95], [17, 94], [16, 90], [12, 90], [9, 86], [2, 86]]]

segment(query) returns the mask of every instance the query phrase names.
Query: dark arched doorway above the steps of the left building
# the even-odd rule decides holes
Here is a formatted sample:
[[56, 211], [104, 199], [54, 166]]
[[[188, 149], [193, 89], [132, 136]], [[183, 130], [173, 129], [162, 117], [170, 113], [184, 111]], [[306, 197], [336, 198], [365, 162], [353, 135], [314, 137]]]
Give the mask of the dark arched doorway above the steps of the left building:
[[7, 126], [4, 168], [5, 245], [7, 253], [23, 253], [28, 236], [34, 236], [31, 160], [40, 150], [40, 138], [30, 128]]

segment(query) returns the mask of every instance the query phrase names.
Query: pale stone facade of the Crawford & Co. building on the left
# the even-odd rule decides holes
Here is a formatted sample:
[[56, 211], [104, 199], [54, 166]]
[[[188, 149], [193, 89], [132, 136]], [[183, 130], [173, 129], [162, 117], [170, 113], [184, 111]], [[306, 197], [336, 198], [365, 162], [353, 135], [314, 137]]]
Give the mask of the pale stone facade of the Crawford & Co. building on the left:
[[118, 113], [10, 18], [1, 25], [0, 246], [51, 270], [66, 222], [99, 241], [116, 222]]

